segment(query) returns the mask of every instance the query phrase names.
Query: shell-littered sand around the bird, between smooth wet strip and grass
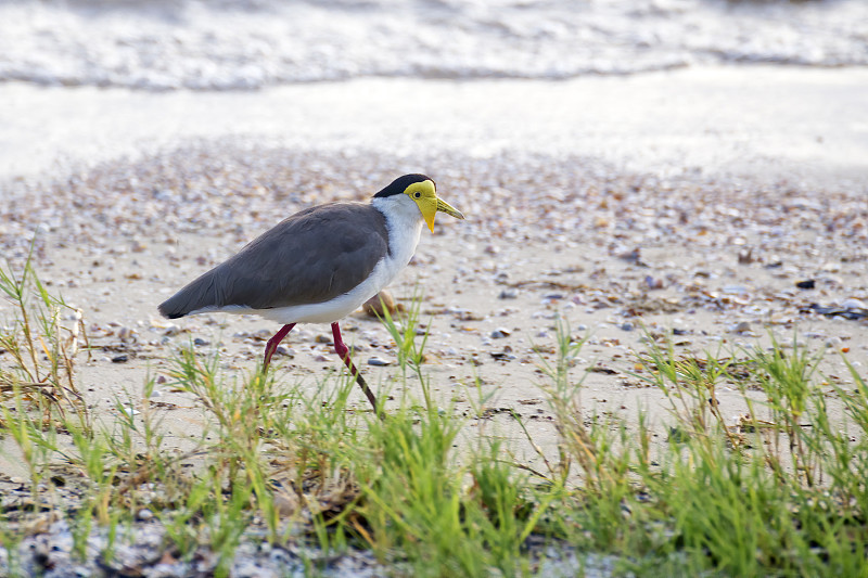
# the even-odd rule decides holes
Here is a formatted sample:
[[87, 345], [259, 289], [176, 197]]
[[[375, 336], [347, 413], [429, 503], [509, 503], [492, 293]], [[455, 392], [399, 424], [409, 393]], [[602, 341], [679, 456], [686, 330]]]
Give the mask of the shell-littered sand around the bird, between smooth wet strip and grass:
[[[165, 376], [175, 348], [196, 338], [203, 354], [220, 350], [230, 380], [253, 371], [277, 325], [221, 314], [168, 322], [156, 305], [284, 216], [363, 198], [396, 167], [429, 172], [468, 216], [438, 219], [392, 286], [398, 298], [423, 294], [431, 330], [425, 371], [437, 399], [468, 416], [468, 436], [500, 436], [533, 467], [541, 460], [509, 412], [522, 416], [550, 459], [557, 454], [538, 363], [553, 359], [559, 317], [574, 337], [588, 337], [573, 369], [585, 378], [587, 419], [633, 422], [642, 409], [652, 423], [666, 421], [664, 398], [644, 386], [636, 354], [647, 349], [646, 337], [672, 330], [687, 357], [740, 355], [766, 346], [769, 335], [826, 351], [818, 386], [830, 395], [831, 384], [850, 383], [842, 352], [859, 369], [868, 362], [866, 320], [805, 312], [814, 303], [868, 300], [865, 188], [666, 179], [526, 151], [485, 158], [439, 152], [408, 165], [385, 154], [201, 143], [107, 162], [25, 191], [0, 213], [2, 244], [20, 264], [26, 231], [41, 229], [37, 269], [51, 291], [85, 311], [100, 348], [81, 359], [78, 383], [98, 413], [111, 415], [117, 396], [140, 402], [145, 377]], [[808, 280], [814, 288], [796, 286]], [[0, 308], [11, 314], [5, 303]], [[399, 398], [399, 370], [368, 364], [371, 357], [396, 360], [385, 330], [360, 313], [344, 327], [369, 383]], [[312, 395], [318, 380], [341, 369], [329, 342], [328, 326], [292, 332], [288, 355], [276, 358], [279, 378], [302, 382]], [[420, 395], [412, 381], [408, 389]], [[205, 425], [202, 410], [169, 382], [157, 391], [151, 402], [165, 412], [166, 444], [189, 447]], [[723, 387], [718, 401], [733, 421], [744, 412], [735, 386]], [[838, 411], [833, 400], [830, 407]], [[665, 438], [660, 427], [656, 439]], [[8, 462], [2, 468], [17, 471]]]

